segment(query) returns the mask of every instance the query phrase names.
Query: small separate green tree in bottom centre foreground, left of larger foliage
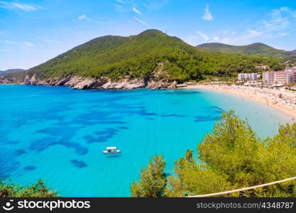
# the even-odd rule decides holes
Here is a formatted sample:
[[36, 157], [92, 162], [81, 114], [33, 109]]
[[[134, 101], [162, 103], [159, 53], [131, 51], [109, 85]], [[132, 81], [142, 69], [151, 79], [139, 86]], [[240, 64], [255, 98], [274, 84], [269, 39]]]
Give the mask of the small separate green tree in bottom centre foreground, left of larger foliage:
[[150, 159], [148, 167], [141, 171], [141, 180], [131, 186], [132, 197], [163, 197], [167, 185], [164, 169], [163, 155]]

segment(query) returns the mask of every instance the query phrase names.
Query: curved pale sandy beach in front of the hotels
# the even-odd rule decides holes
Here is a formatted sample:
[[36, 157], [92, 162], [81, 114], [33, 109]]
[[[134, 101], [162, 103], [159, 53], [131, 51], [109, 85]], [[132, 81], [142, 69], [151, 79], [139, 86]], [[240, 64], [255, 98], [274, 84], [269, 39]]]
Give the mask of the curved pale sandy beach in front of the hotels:
[[182, 89], [207, 89], [216, 92], [234, 94], [239, 97], [261, 102], [275, 109], [285, 112], [296, 121], [296, 92], [286, 89], [268, 89], [260, 87], [246, 87], [225, 84], [193, 84]]

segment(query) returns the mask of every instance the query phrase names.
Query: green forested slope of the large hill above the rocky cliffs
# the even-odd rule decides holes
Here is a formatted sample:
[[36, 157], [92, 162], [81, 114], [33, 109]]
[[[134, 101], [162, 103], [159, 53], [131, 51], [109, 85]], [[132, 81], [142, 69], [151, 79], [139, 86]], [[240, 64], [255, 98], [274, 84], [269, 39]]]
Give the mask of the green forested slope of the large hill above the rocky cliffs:
[[204, 80], [207, 76], [231, 76], [256, 71], [267, 64], [278, 70], [273, 58], [215, 53], [194, 48], [179, 38], [157, 30], [129, 37], [107, 35], [77, 46], [28, 73], [39, 78], [79, 75], [82, 77], [154, 77], [158, 80]]

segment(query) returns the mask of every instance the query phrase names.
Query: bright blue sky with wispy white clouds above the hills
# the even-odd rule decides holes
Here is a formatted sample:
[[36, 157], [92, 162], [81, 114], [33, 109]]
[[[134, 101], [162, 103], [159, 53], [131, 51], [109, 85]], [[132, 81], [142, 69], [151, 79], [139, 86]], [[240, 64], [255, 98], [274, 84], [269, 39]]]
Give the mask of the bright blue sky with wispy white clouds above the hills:
[[0, 70], [28, 69], [102, 35], [167, 31], [191, 45], [296, 49], [296, 1], [0, 0]]

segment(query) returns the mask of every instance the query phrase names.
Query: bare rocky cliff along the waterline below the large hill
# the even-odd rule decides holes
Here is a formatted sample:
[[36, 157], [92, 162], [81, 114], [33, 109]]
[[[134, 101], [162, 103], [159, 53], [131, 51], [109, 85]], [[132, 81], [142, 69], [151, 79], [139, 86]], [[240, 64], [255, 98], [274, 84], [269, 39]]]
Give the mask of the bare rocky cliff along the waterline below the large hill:
[[[0, 80], [1, 83], [1, 80]], [[8, 82], [2, 82], [8, 83]], [[13, 82], [11, 82], [13, 83]], [[26, 75], [23, 84], [26, 85], [50, 85], [50, 86], [68, 86], [72, 89], [177, 89], [177, 82], [168, 80], [153, 80], [151, 78], [118, 80], [113, 81], [102, 77], [99, 79], [84, 78], [79, 76], [55, 77], [41, 80], [36, 75]]]

